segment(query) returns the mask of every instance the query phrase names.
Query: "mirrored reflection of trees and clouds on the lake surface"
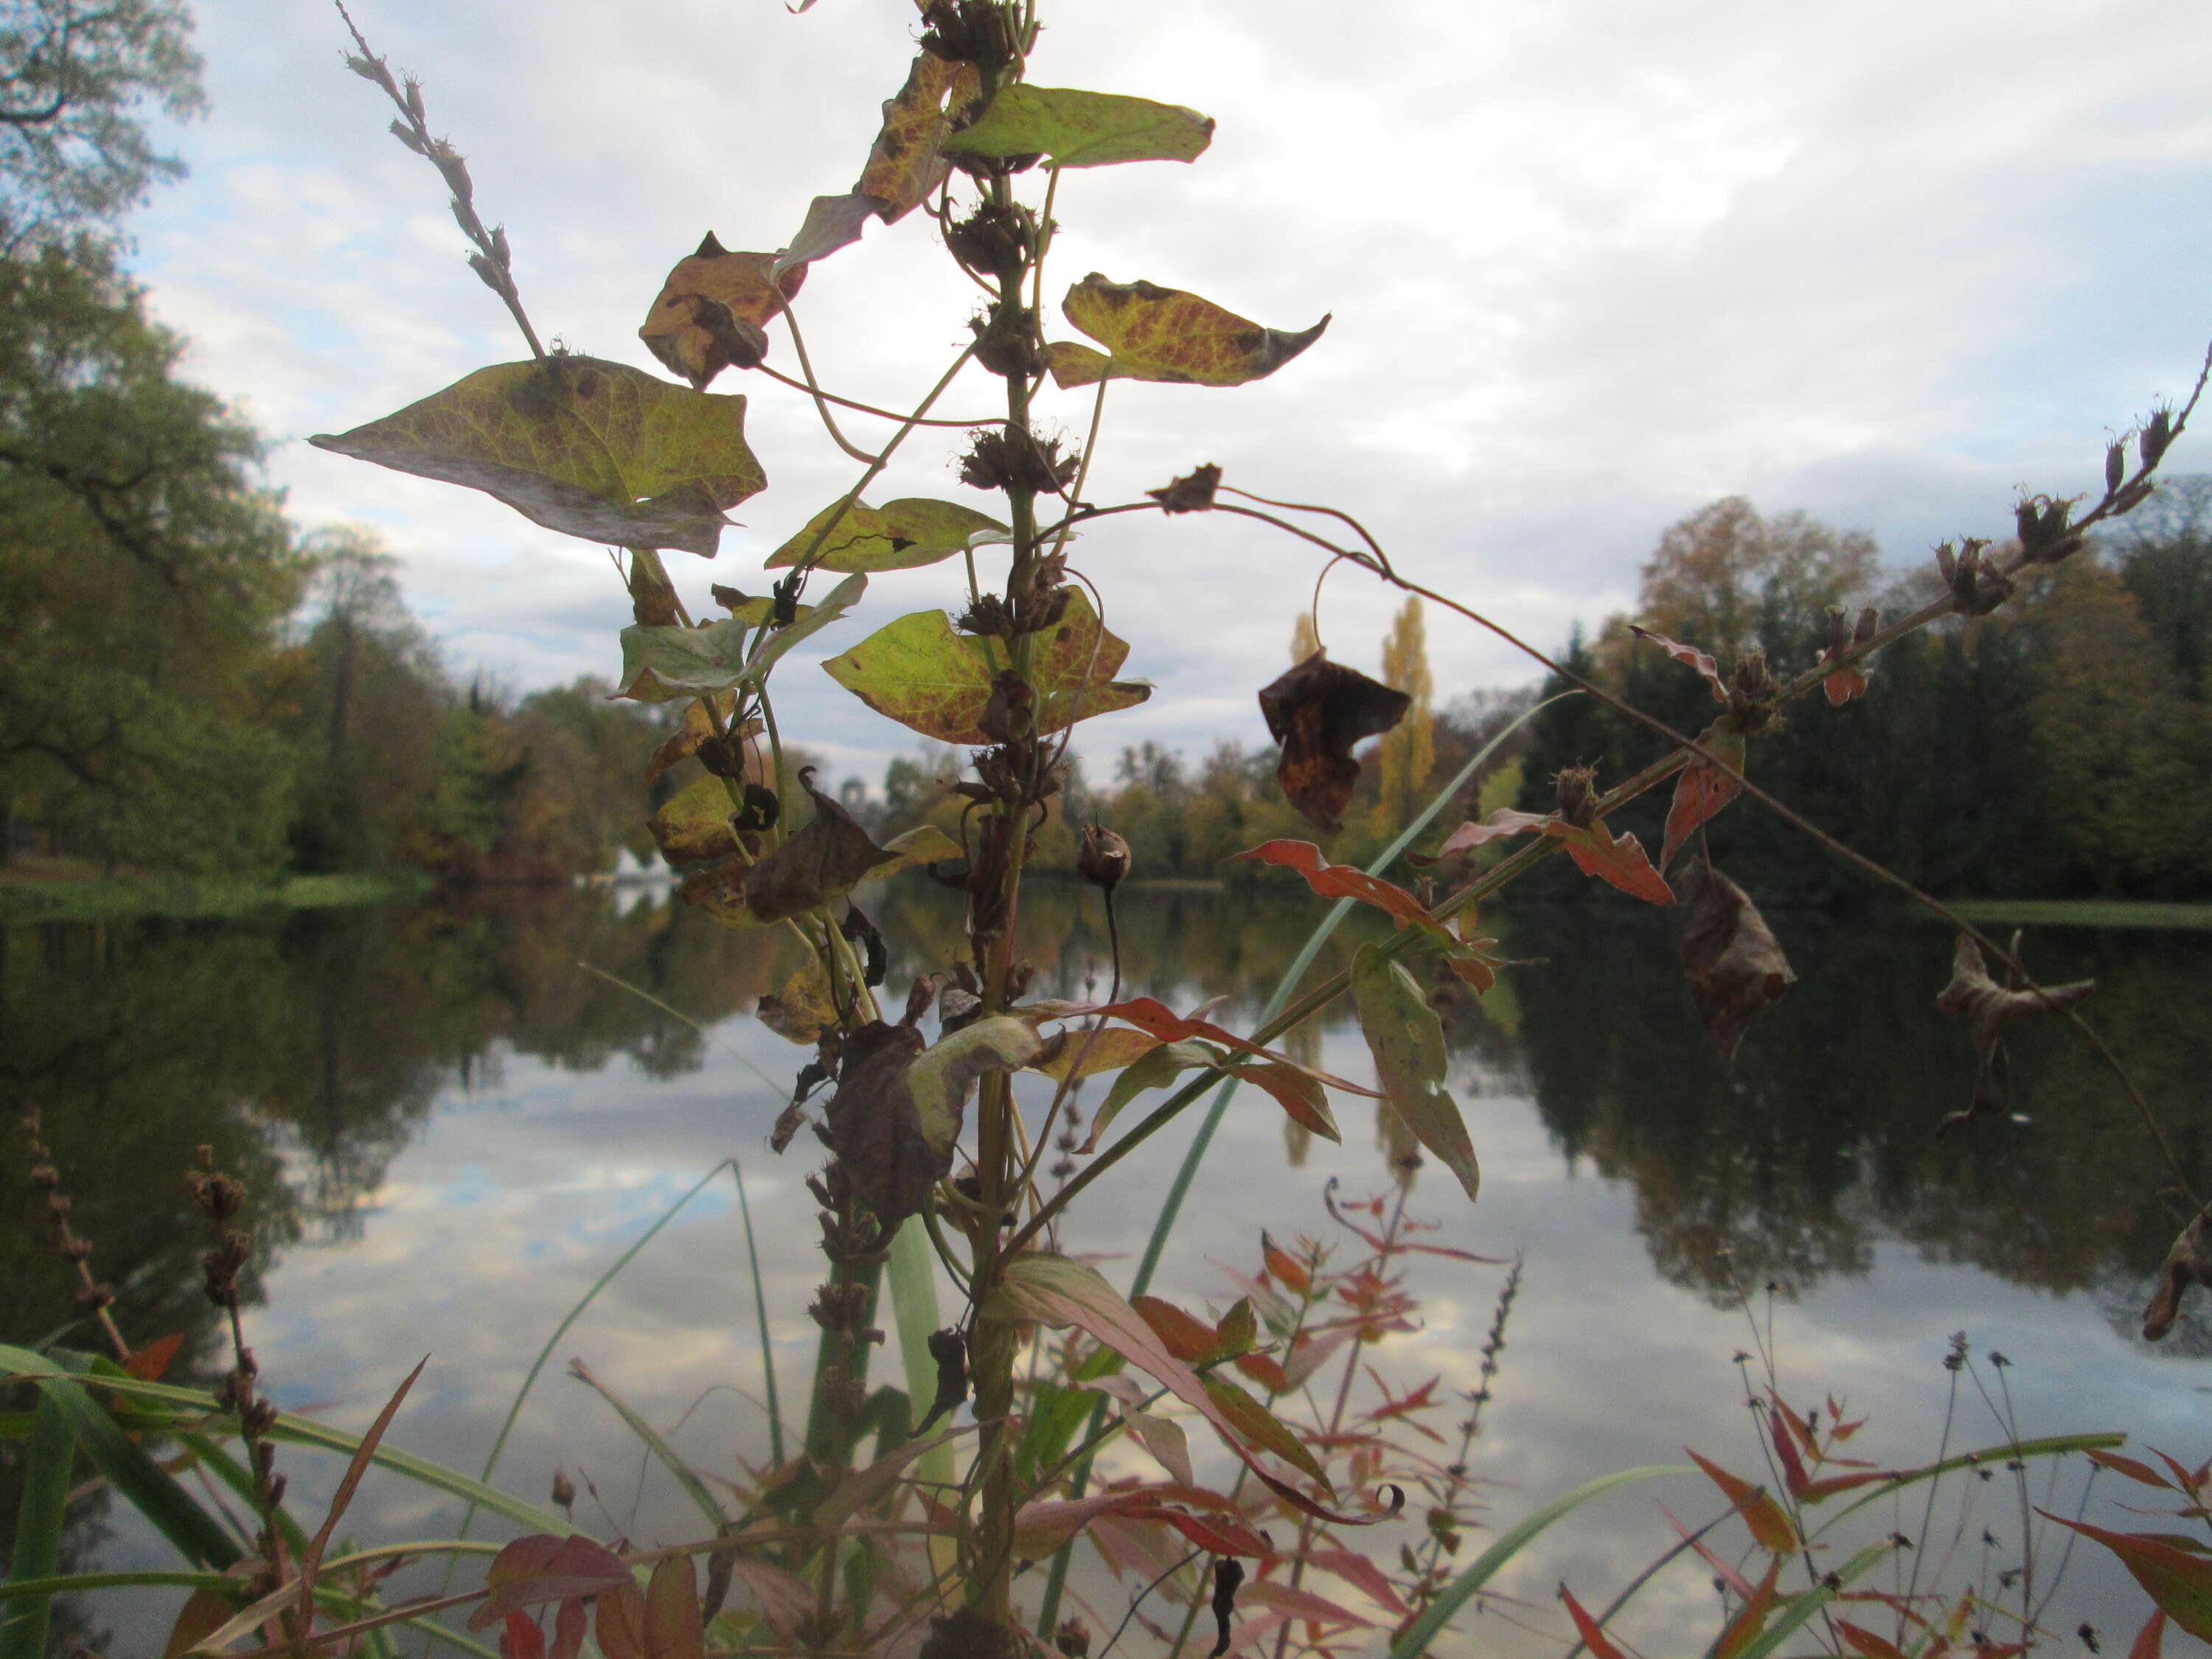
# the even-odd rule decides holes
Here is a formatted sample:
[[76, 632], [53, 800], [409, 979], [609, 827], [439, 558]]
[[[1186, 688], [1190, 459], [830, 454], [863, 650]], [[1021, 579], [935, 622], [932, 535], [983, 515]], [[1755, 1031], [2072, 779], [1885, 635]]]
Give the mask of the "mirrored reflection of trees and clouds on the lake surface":
[[[956, 894], [916, 880], [863, 902], [891, 942], [894, 987], [960, 949]], [[1296, 900], [1128, 891], [1126, 984], [1183, 1009], [1228, 998], [1221, 1018], [1248, 1024], [1316, 914]], [[1672, 1455], [1683, 1438], [1721, 1442], [1725, 1429], [1699, 1413], [1732, 1418], [1725, 1356], [1739, 1334], [1692, 1298], [1728, 1303], [1739, 1281], [1774, 1283], [1809, 1310], [1825, 1285], [1827, 1305], [1807, 1327], [1829, 1321], [1869, 1356], [1843, 1378], [1854, 1389], [1871, 1389], [1876, 1363], [1893, 1365], [1900, 1347], [1927, 1347], [1933, 1363], [1940, 1336], [1927, 1340], [1929, 1332], [1997, 1303], [1997, 1287], [1973, 1272], [2022, 1287], [2004, 1314], [2013, 1321], [2033, 1301], [2026, 1292], [2086, 1292], [2051, 1310], [2055, 1336], [2044, 1347], [2095, 1354], [2099, 1385], [2117, 1374], [2097, 1345], [2126, 1356], [2135, 1343], [2139, 1281], [2174, 1228], [2166, 1172], [2095, 1057], [2033, 1022], [2013, 1037], [2031, 1121], [1933, 1139], [1933, 1124], [1971, 1082], [1964, 1033], [1931, 1006], [1949, 960], [1940, 929], [1778, 914], [1801, 984], [1752, 1029], [1730, 1079], [1694, 1024], [1663, 916], [1628, 905], [1528, 905], [1500, 909], [1493, 922], [1504, 953], [1526, 967], [1480, 1002], [1455, 980], [1433, 987], [1455, 1048], [1453, 1086], [1489, 1170], [1484, 1203], [1469, 1212], [1436, 1170], [1418, 1177], [1416, 1201], [1449, 1219], [1453, 1243], [1531, 1252], [1500, 1418], [1520, 1440], [1491, 1449], [1531, 1495]], [[1093, 894], [1033, 887], [1022, 927], [1040, 993], [1104, 993], [1106, 933]], [[1385, 927], [1356, 918], [1321, 969], [1343, 967]], [[2212, 940], [2046, 931], [2028, 951], [2053, 980], [2099, 980], [2090, 1004], [2099, 1024], [2192, 1170], [2212, 1161], [2203, 1102]], [[710, 1029], [723, 1024], [701, 1035], [577, 962]], [[787, 1084], [803, 1055], [743, 1018], [796, 962], [774, 933], [728, 933], [688, 911], [611, 894], [500, 894], [465, 907], [254, 925], [18, 929], [0, 953], [0, 1104], [9, 1106], [0, 1121], [11, 1126], [29, 1104], [42, 1108], [77, 1230], [119, 1292], [122, 1327], [188, 1332], [179, 1369], [201, 1380], [221, 1360], [181, 1170], [197, 1146], [215, 1146], [254, 1190], [263, 1252], [254, 1294], [263, 1276], [296, 1274], [257, 1336], [281, 1358], [272, 1374], [301, 1389], [299, 1400], [358, 1407], [376, 1394], [376, 1365], [438, 1347], [451, 1389], [438, 1405], [447, 1422], [411, 1427], [409, 1444], [473, 1464], [544, 1329], [635, 1228], [730, 1150], [759, 1179], [772, 1321], [792, 1310], [792, 1329], [774, 1340], [803, 1365], [812, 1327], [796, 1310], [818, 1267], [796, 1186], [807, 1148], [794, 1148], [785, 1166], [759, 1150], [779, 1104], [770, 1084]], [[1358, 1037], [1343, 1022], [1310, 1024], [1285, 1042], [1365, 1075]], [[726, 1048], [741, 1057], [732, 1062]], [[1316, 1225], [1323, 1172], [1376, 1183], [1407, 1150], [1402, 1130], [1371, 1117], [1365, 1102], [1340, 1102], [1340, 1119], [1343, 1152], [1279, 1126], [1263, 1102], [1232, 1115], [1214, 1159], [1219, 1197], [1186, 1210], [1172, 1294], [1214, 1294], [1208, 1259], [1248, 1256], [1261, 1223]], [[1290, 1175], [1272, 1164], [1276, 1146]], [[1164, 1181], [1179, 1148], [1164, 1135], [1133, 1159], [1139, 1192], [1144, 1181]], [[1606, 1181], [1568, 1181], [1562, 1164]], [[504, 1208], [456, 1225], [456, 1206], [487, 1192]], [[0, 1183], [0, 1336], [9, 1340], [35, 1340], [75, 1318], [73, 1283], [46, 1245], [33, 1197], [20, 1179]], [[1137, 1201], [1079, 1212], [1079, 1248], [1126, 1259], [1141, 1248], [1144, 1210]], [[467, 1243], [456, 1250], [449, 1237], [460, 1232]], [[750, 1376], [754, 1363], [748, 1310], [730, 1294], [730, 1256], [717, 1254], [728, 1248], [708, 1239], [688, 1259], [681, 1250], [644, 1259], [591, 1345], [595, 1365], [606, 1356], [611, 1369], [633, 1367], [639, 1389], [666, 1389], [668, 1420], [692, 1391], [723, 1389], [712, 1407], [721, 1418], [703, 1429], [710, 1467], [757, 1438], [750, 1407], [728, 1394], [730, 1378]], [[445, 1283], [422, 1287], [436, 1274]], [[1449, 1369], [1453, 1345], [1471, 1354], [1480, 1340], [1495, 1285], [1440, 1281], [1436, 1290], [1420, 1363]], [[1455, 1312], [1453, 1301], [1464, 1307]], [[2084, 1325], [2095, 1340], [2084, 1340]], [[2163, 1352], [2190, 1352], [2190, 1343], [2212, 1352], [2203, 1327], [2190, 1329]], [[1889, 1347], [1878, 1349], [1880, 1340]], [[1617, 1365], [1624, 1343], [1637, 1354], [1626, 1371]], [[330, 1358], [314, 1365], [314, 1354]], [[2128, 1387], [2143, 1387], [2141, 1376]], [[2106, 1416], [2104, 1396], [2066, 1394], [2079, 1387], [2075, 1376], [2053, 1367], [2051, 1387], [2059, 1405], [2042, 1427]], [[1637, 1398], [1628, 1391], [1668, 1402], [1659, 1444], [1646, 1444], [1646, 1413], [1624, 1409]], [[608, 1469], [635, 1455], [586, 1447], [584, 1433], [573, 1409], [542, 1398], [502, 1480], [542, 1491], [564, 1458], [588, 1453]], [[71, 1559], [97, 1555], [97, 1502], [73, 1511]], [[0, 1460], [0, 1533], [13, 1509]], [[363, 1517], [365, 1528], [378, 1522]], [[418, 1513], [392, 1524], [403, 1522], [431, 1526]], [[137, 1646], [159, 1646], [159, 1630]]]

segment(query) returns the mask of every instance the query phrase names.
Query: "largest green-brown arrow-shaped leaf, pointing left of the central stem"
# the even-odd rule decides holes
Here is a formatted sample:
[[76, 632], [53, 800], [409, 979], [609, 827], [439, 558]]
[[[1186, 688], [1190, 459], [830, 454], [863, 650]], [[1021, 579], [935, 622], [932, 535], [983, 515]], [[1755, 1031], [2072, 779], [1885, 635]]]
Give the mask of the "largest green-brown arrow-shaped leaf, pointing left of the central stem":
[[480, 489], [562, 535], [706, 557], [723, 513], [768, 482], [745, 447], [743, 398], [591, 356], [495, 363], [307, 442]]

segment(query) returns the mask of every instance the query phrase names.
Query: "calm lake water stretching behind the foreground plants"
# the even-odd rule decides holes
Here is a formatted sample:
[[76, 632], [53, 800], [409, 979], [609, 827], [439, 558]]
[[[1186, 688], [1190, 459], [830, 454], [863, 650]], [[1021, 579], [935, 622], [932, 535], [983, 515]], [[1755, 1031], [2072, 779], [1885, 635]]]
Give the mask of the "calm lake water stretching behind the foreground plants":
[[[902, 885], [878, 909], [894, 991], [958, 945], [953, 894]], [[1217, 1018], [1250, 1029], [1276, 964], [1318, 914], [1241, 894], [1128, 891], [1128, 989], [1179, 1009], [1225, 995]], [[1694, 1026], [1666, 918], [1626, 902], [1531, 905], [1500, 909], [1495, 922], [1504, 951], [1528, 962], [1484, 1002], [1458, 995], [1444, 1009], [1482, 1199], [1469, 1206], [1433, 1164], [1411, 1190], [1411, 1210], [1438, 1223], [1427, 1239], [1524, 1261], [1471, 1455], [1489, 1524], [1590, 1475], [1674, 1462], [1683, 1444], [1765, 1480], [1734, 1363], [1754, 1347], [1736, 1287], [1750, 1290], [1759, 1334], [1772, 1329], [1783, 1394], [1798, 1405], [1836, 1396], [1854, 1418], [1871, 1416], [1851, 1451], [1882, 1464], [1933, 1455], [1953, 1383], [1951, 1449], [2004, 1440], [1975, 1378], [2011, 1389], [2026, 1436], [2110, 1427], [2188, 1462], [2212, 1453], [2205, 1325], [2185, 1323], [2159, 1347], [2135, 1336], [2177, 1208], [2097, 1062], [2062, 1029], [2022, 1022], [2022, 1121], [1933, 1137], [1966, 1102], [1973, 1071], [1964, 1031], [1933, 1009], [1949, 971], [1940, 929], [1776, 916], [1801, 984], [1754, 1024], [1730, 1079]], [[1042, 993], [1082, 995], [1093, 980], [1104, 991], [1093, 896], [1035, 889], [1024, 929]], [[1325, 967], [1356, 938], [1347, 925]], [[2212, 1166], [2212, 936], [2042, 929], [2026, 949], [2046, 980], [2099, 980], [2090, 1013], [2192, 1175]], [[580, 962], [648, 989], [706, 1035]], [[285, 1407], [319, 1405], [358, 1429], [429, 1354], [394, 1442], [476, 1469], [560, 1316], [726, 1157], [745, 1172], [783, 1398], [801, 1394], [818, 1279], [803, 1177], [818, 1150], [810, 1137], [781, 1159], [768, 1150], [803, 1051], [750, 1018], [792, 967], [774, 936], [606, 891], [246, 925], [15, 929], [0, 956], [0, 1086], [11, 1130], [24, 1104], [44, 1110], [126, 1332], [188, 1332], [179, 1371], [190, 1376], [226, 1363], [199, 1296], [206, 1241], [184, 1190], [195, 1148], [210, 1144], [254, 1192], [263, 1259], [248, 1327], [265, 1387]], [[1329, 1071], [1371, 1077], [1345, 1020], [1305, 1042]], [[1340, 1095], [1336, 1110], [1340, 1146], [1287, 1130], [1265, 1095], [1239, 1095], [1155, 1290], [1221, 1310], [1237, 1296], [1223, 1267], [1256, 1270], [1261, 1228], [1343, 1241], [1323, 1186], [1391, 1190], [1394, 1137], [1371, 1102]], [[1170, 1128], [1095, 1188], [1073, 1210], [1068, 1248], [1097, 1252], [1126, 1283], [1188, 1135]], [[20, 1168], [20, 1139], [9, 1146], [7, 1164]], [[20, 1175], [0, 1203], [0, 1336], [35, 1340], [69, 1318], [69, 1283]], [[1444, 1389], [1478, 1387], [1502, 1281], [1502, 1267], [1416, 1265], [1420, 1329], [1385, 1347], [1378, 1371], [1400, 1394], [1431, 1376]], [[1978, 1360], [2002, 1352], [2002, 1378], [1986, 1363], [1947, 1374], [1953, 1332]], [[765, 1460], [728, 1175], [568, 1332], [498, 1471], [535, 1500], [555, 1467], [588, 1478], [577, 1522], [602, 1535], [690, 1537], [697, 1513], [564, 1374], [571, 1356], [672, 1429], [699, 1467], [734, 1473]], [[896, 1358], [883, 1374], [898, 1376]], [[1201, 1478], [1219, 1462], [1201, 1458]], [[336, 1475], [305, 1451], [288, 1451], [285, 1467], [310, 1502]], [[2057, 1489], [2068, 1513], [2079, 1480], [2073, 1460]], [[2157, 1524], [2130, 1522], [2112, 1502], [2126, 1493], [2110, 1486], [2106, 1478], [2093, 1493], [2093, 1517]], [[1672, 1542], [1655, 1498], [1686, 1520], [1714, 1511], [1697, 1475], [1582, 1511], [1498, 1579], [1517, 1604], [1467, 1619], [1440, 1652], [1559, 1652], [1557, 1582], [1593, 1606], [1610, 1597]], [[1995, 1588], [2017, 1555], [2020, 1506], [2006, 1478], [1978, 1502], [1953, 1522], [1944, 1493], [1940, 1535], [1922, 1540], [1922, 1582], [1958, 1526], [1942, 1582]], [[0, 1506], [13, 1513], [13, 1467]], [[1876, 1517], [1876, 1533], [1898, 1524], [1920, 1537], [1918, 1500], [1907, 1511]], [[434, 1537], [453, 1520], [418, 1489], [372, 1478], [347, 1528]], [[1978, 1537], [1984, 1526], [1995, 1551]], [[1460, 1559], [1482, 1546], [1471, 1533]], [[2046, 1577], [2057, 1548], [2046, 1540]], [[71, 1555], [77, 1566], [168, 1564], [104, 1495], [80, 1504]], [[1108, 1624], [1130, 1593], [1102, 1571], [1079, 1575], [1079, 1588]], [[113, 1652], [159, 1652], [173, 1606], [164, 1590], [117, 1590], [73, 1617], [80, 1632], [111, 1632]], [[1639, 1606], [1626, 1632], [1688, 1650], [1692, 1632], [1714, 1628], [1710, 1571], [1670, 1568]], [[2139, 1610], [2141, 1595], [2084, 1546], [2048, 1621], [2073, 1632], [2088, 1619], [2106, 1652], [2124, 1652]], [[2068, 1635], [2051, 1650], [2079, 1648]]]

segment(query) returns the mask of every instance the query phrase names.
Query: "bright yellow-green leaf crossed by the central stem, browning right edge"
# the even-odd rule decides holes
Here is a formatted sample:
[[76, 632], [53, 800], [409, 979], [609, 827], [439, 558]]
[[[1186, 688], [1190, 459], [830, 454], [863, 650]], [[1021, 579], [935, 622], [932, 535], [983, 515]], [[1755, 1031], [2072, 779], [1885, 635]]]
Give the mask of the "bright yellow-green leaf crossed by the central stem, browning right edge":
[[[1040, 737], [1152, 695], [1141, 679], [1113, 679], [1128, 661], [1128, 641], [1099, 626], [1082, 588], [1068, 595], [1066, 615], [1033, 641], [1029, 684]], [[991, 703], [991, 659], [980, 639], [953, 633], [942, 611], [898, 617], [823, 668], [878, 714], [922, 737], [978, 748], [991, 741], [978, 726]]]

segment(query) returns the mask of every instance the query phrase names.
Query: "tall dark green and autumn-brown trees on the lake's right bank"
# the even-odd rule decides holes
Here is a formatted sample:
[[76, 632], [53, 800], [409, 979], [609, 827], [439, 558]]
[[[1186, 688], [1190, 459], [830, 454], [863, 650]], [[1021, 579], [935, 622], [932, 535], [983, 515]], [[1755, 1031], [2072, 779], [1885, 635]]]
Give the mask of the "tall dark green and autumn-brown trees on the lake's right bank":
[[[1829, 608], [1887, 617], [1936, 595], [1933, 568], [1882, 571], [1865, 535], [1743, 498], [1670, 529], [1635, 619], [1710, 650], [1723, 670], [1765, 650], [1812, 666]], [[1681, 732], [1712, 719], [1694, 672], [1610, 617], [1566, 666]], [[1982, 619], [1953, 619], [1876, 657], [1863, 699], [1814, 697], [1754, 739], [1752, 774], [1807, 818], [1944, 896], [2199, 898], [2212, 894], [2212, 476], [2174, 478], [2093, 557], [2057, 566]], [[1564, 686], [1546, 686], [1546, 692]], [[1599, 783], [1663, 752], [1593, 697], [1533, 723], [1522, 805], [1546, 810], [1562, 765]], [[1626, 812], [1655, 841], [1663, 803]], [[1756, 805], [1710, 825], [1712, 856], [1761, 896], [1871, 891]], [[1555, 876], [1555, 891], [1571, 885]]]

